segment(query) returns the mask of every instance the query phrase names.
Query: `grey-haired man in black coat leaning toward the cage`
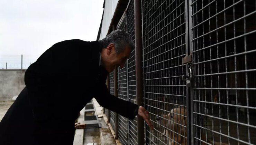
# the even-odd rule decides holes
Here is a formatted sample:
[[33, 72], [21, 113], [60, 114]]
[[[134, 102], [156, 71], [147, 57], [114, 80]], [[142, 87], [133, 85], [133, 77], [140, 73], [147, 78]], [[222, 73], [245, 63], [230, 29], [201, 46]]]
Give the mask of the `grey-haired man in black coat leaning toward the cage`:
[[107, 71], [123, 67], [134, 43], [122, 30], [100, 41], [58, 42], [25, 72], [26, 87], [0, 123], [1, 145], [72, 145], [74, 121], [93, 98], [129, 119], [147, 110], [109, 94]]

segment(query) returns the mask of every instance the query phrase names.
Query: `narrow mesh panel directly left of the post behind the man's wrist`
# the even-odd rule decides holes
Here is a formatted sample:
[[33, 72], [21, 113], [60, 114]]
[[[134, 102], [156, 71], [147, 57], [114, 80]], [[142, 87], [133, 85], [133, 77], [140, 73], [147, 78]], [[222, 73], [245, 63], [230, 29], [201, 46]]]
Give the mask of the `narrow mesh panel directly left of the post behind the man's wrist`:
[[[134, 31], [134, 0], [131, 0], [127, 7], [127, 33], [135, 41]], [[136, 73], [135, 73], [135, 49], [131, 51], [128, 59], [128, 99], [136, 104]], [[130, 145], [137, 144], [137, 116], [134, 120], [129, 120], [129, 142]]]

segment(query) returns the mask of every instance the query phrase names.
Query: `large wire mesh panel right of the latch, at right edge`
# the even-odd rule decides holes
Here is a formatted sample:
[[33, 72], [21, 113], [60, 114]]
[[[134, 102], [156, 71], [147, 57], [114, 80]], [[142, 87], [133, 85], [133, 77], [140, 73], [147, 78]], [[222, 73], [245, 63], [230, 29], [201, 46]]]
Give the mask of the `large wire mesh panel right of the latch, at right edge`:
[[196, 144], [256, 144], [255, 6], [192, 1]]

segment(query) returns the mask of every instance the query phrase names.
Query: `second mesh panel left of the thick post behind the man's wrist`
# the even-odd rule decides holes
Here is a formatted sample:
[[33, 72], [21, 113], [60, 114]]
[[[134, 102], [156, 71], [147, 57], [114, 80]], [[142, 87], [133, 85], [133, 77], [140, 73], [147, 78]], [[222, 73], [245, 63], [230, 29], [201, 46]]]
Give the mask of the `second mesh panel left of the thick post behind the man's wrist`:
[[[126, 17], [122, 17], [118, 29], [126, 30]], [[118, 96], [120, 99], [127, 100], [127, 67], [118, 67]], [[118, 137], [122, 144], [128, 144], [128, 118], [119, 115]]]

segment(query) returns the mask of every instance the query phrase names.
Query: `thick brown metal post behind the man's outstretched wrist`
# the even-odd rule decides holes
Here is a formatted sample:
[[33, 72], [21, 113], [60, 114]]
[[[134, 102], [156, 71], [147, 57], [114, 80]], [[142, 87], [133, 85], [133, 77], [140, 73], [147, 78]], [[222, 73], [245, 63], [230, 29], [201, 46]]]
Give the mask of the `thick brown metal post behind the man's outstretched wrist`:
[[[143, 80], [142, 80], [142, 36], [141, 36], [141, 3], [134, 0], [134, 22], [135, 22], [135, 64], [136, 64], [136, 99], [137, 105], [143, 106]], [[139, 145], [144, 144], [144, 121], [137, 116], [137, 133]]]

